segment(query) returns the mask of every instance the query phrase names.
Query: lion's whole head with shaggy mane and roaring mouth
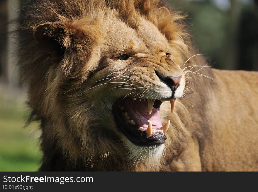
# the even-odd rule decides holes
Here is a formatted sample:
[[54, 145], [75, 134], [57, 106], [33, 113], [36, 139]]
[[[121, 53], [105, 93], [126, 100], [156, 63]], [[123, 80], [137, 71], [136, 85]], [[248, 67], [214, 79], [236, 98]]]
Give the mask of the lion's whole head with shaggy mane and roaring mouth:
[[169, 121], [159, 108], [171, 101], [173, 110], [186, 82], [183, 17], [148, 0], [27, 7], [23, 71], [33, 115], [41, 120], [43, 163], [54, 151], [85, 167], [105, 169], [113, 159], [113, 170], [160, 157]]

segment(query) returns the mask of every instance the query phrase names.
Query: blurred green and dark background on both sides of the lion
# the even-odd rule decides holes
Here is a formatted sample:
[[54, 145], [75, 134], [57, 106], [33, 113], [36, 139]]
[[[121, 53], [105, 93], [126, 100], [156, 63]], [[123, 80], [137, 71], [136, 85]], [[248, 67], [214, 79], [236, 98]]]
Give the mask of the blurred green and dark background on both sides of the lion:
[[[26, 87], [18, 76], [14, 31], [21, 0], [0, 0], [0, 171], [36, 171], [38, 123], [25, 127]], [[193, 43], [211, 66], [258, 71], [258, 0], [167, 0], [188, 15]]]

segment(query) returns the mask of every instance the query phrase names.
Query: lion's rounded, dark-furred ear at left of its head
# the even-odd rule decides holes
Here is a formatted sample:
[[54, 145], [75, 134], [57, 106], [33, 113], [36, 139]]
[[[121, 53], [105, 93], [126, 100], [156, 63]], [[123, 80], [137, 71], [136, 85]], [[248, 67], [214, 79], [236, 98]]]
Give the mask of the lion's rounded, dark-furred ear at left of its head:
[[81, 31], [69, 23], [61, 22], [40, 24], [33, 33], [40, 50], [53, 59], [60, 59], [73, 46], [74, 38], [78, 39], [78, 35], [83, 36]]

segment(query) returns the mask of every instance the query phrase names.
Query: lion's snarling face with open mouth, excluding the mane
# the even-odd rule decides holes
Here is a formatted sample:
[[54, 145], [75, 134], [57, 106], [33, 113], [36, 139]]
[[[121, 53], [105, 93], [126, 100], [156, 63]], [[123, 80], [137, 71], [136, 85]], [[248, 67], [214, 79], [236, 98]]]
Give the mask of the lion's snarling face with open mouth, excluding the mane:
[[159, 107], [183, 95], [184, 73], [155, 25], [142, 19], [134, 30], [114, 23], [103, 31], [101, 70], [89, 78], [85, 97], [99, 112], [101, 127], [116, 132], [127, 146], [160, 146], [169, 124], [162, 125]]

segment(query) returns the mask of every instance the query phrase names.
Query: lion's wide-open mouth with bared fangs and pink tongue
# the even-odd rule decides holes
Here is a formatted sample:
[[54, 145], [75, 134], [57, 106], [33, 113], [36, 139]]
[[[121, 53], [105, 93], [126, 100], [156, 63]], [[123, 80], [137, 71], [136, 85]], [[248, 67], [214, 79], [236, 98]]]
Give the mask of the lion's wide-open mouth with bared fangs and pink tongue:
[[[165, 143], [170, 121], [161, 124], [159, 107], [163, 100], [130, 98], [118, 100], [113, 114], [121, 132], [135, 145], [157, 145]], [[170, 100], [174, 112], [176, 98]]]

